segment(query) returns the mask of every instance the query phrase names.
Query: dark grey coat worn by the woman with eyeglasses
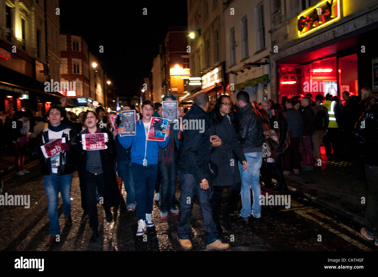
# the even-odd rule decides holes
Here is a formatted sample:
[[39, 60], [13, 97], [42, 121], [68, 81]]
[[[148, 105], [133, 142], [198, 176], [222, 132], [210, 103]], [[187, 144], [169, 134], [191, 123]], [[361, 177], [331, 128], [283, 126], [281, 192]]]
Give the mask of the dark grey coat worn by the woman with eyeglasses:
[[[210, 127], [210, 135], [214, 135], [213, 125]], [[223, 116], [223, 121], [215, 125], [215, 135], [222, 139], [222, 145], [214, 147], [214, 152], [211, 153], [211, 161], [218, 166], [218, 176], [214, 179], [213, 186], [230, 186], [240, 182], [238, 159], [241, 162], [246, 161], [246, 158], [237, 140], [235, 128], [227, 116]]]

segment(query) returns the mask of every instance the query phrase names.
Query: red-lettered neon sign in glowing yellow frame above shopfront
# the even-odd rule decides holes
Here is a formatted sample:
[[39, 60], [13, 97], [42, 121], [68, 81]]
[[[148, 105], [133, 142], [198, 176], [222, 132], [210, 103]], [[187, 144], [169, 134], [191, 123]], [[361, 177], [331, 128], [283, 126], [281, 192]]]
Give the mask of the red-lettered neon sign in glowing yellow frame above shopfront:
[[340, 1], [325, 0], [298, 15], [298, 36], [303, 37], [340, 19]]

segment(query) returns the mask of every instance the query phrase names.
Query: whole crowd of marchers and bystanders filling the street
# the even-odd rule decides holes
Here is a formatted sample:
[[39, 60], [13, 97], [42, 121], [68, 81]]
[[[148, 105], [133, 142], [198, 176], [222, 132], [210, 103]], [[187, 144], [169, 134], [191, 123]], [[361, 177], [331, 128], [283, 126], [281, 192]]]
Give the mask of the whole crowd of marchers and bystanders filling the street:
[[[162, 220], [167, 218], [168, 212], [179, 216], [177, 240], [182, 248], [191, 249], [189, 219], [197, 196], [206, 230], [206, 248], [227, 249], [229, 244], [220, 240], [222, 225], [226, 230], [232, 230], [230, 214], [239, 200], [242, 209], [233, 220], [249, 222], [252, 218], [258, 222], [261, 218], [260, 175], [263, 195], [270, 195], [271, 190], [287, 190], [285, 175], [291, 171], [298, 175], [301, 170], [310, 171], [321, 165], [322, 143], [328, 159], [353, 159], [363, 153], [368, 190], [366, 226], [361, 233], [372, 240], [375, 236], [378, 245], [378, 163], [375, 156], [378, 104], [369, 88], [362, 90], [360, 102], [347, 91], [342, 97], [344, 104], [331, 94], [325, 99], [322, 94], [315, 99], [307, 94], [282, 97], [281, 104], [271, 99], [257, 103], [250, 101], [246, 91], [239, 91], [235, 105], [228, 95], [222, 95], [209, 110], [209, 97], [199, 93], [189, 111], [177, 108], [178, 117], [203, 121], [204, 132], [182, 125], [174, 128], [174, 123], [169, 123], [161, 131], [165, 140], [159, 142], [147, 140], [147, 133], [151, 117], [163, 117], [163, 109], [160, 103], [149, 100], [144, 101], [139, 110], [135, 136], [120, 136], [125, 128], [120, 124], [115, 130], [110, 122], [110, 116], [116, 113], [105, 114], [102, 107], [81, 112], [77, 122], [75, 114], [66, 112], [64, 99], [60, 106], [50, 107], [45, 117], [34, 116], [27, 110], [11, 120], [2, 112], [1, 126], [3, 130], [10, 128], [12, 133], [10, 139], [17, 175], [28, 173], [23, 169], [24, 155], [39, 157], [48, 199], [50, 246], [60, 233], [59, 192], [65, 223], [73, 222], [70, 186], [72, 173], [77, 170], [81, 206], [93, 229], [91, 243], [96, 242], [99, 235], [97, 203], [102, 204], [106, 220], [111, 222], [111, 208], [114, 207], [115, 212], [119, 206], [122, 197], [119, 184], [123, 182], [127, 212], [136, 212], [136, 236], [144, 235], [147, 227], [154, 226], [152, 211], [156, 200]], [[175, 100], [172, 94], [163, 97], [163, 101]], [[135, 110], [135, 107], [125, 105], [122, 110]], [[16, 121], [15, 128], [11, 126], [13, 121]], [[106, 149], [86, 150], [82, 135], [94, 133], [107, 135]], [[3, 136], [3, 139], [6, 138]], [[59, 149], [55, 147], [57, 153], [51, 151], [51, 155], [46, 155], [43, 147], [48, 149], [46, 145], [57, 139], [60, 139]], [[175, 203], [176, 178], [181, 186], [179, 209]], [[272, 178], [277, 181], [275, 184]], [[221, 211], [225, 187], [229, 188], [229, 194]], [[220, 215], [223, 215], [222, 224]]]

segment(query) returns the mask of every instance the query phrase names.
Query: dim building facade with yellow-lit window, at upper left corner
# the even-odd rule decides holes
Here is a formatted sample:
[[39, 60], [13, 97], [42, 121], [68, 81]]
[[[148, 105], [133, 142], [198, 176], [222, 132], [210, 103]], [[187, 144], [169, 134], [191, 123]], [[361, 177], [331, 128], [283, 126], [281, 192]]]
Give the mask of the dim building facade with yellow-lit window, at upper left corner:
[[58, 0], [0, 0], [0, 110], [44, 112], [61, 96], [50, 85], [60, 80], [57, 8]]

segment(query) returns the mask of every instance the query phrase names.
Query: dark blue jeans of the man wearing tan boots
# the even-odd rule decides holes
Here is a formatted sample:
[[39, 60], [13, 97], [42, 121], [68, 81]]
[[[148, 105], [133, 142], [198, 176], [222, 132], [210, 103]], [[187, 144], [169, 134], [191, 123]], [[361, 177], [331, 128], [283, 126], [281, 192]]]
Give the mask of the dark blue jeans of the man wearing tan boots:
[[[208, 176], [206, 176], [208, 177]], [[194, 176], [189, 173], [178, 172], [178, 178], [181, 184], [180, 195], [180, 214], [177, 224], [177, 235], [181, 240], [189, 240], [190, 232], [190, 214], [193, 208], [194, 197], [197, 194], [198, 202], [200, 204], [203, 225], [206, 230], [206, 244], [209, 245], [216, 241], [218, 236], [217, 226], [214, 223], [211, 212], [211, 189], [203, 190], [194, 179]], [[208, 179], [208, 178], [206, 178]]]

